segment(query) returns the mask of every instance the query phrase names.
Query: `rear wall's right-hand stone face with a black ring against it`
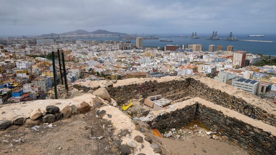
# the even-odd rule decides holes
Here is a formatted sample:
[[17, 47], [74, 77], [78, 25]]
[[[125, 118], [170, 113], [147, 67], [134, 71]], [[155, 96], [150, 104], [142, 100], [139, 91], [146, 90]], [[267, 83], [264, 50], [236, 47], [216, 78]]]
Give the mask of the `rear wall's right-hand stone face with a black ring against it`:
[[254, 105], [252, 106], [251, 103], [246, 102], [242, 98], [236, 98], [235, 96], [229, 95], [221, 90], [210, 88], [208, 85], [200, 82], [199, 80], [191, 79], [189, 81], [189, 96], [200, 97], [206, 101], [210, 101], [217, 105], [237, 111], [243, 115], [246, 115], [243, 111], [244, 107], [250, 106], [253, 109], [253, 111], [248, 109], [249, 114], [253, 112], [251, 118], [262, 120], [265, 123], [276, 127], [276, 119], [275, 116], [273, 116], [274, 114], [267, 114], [267, 111], [261, 109], [260, 107], [255, 107]]

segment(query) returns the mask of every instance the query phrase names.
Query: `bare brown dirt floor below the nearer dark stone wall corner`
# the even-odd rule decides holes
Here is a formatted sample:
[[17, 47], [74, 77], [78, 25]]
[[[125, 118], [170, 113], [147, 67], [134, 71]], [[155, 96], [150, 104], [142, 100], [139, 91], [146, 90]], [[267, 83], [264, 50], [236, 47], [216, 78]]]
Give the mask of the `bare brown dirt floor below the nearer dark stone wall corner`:
[[240, 147], [207, 137], [158, 138], [172, 155], [247, 155]]

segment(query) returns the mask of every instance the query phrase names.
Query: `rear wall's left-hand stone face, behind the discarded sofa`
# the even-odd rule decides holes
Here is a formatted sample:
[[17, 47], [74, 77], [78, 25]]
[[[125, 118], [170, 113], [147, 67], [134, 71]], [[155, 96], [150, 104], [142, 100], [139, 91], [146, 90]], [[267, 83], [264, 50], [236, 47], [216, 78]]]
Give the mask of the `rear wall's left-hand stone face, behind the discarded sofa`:
[[[188, 79], [190, 80], [190, 79]], [[118, 105], [122, 105], [128, 100], [135, 98], [146, 98], [153, 95], [162, 95], [167, 99], [177, 100], [188, 96], [188, 80], [172, 80], [166, 82], [145, 81], [144, 83], [108, 87], [107, 90]], [[144, 102], [141, 100], [141, 103]]]

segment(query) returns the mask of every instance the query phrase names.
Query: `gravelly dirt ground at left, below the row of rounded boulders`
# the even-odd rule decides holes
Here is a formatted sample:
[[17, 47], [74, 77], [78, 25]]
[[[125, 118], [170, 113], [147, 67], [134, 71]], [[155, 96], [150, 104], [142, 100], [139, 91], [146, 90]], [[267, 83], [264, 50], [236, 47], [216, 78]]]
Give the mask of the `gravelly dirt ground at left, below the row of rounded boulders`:
[[[20, 127], [13, 131], [0, 131], [0, 154], [14, 155], [111, 155], [111, 141], [103, 136], [100, 119], [95, 108], [87, 114], [56, 121], [54, 128], [40, 126], [40, 131]], [[17, 142], [21, 138], [24, 142]]]

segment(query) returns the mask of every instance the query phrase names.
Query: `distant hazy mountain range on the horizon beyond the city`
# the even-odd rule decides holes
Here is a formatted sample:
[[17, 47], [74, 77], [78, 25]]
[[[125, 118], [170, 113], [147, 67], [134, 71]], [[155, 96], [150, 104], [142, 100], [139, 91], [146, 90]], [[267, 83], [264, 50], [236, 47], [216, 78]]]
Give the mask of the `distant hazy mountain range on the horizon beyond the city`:
[[93, 32], [88, 32], [88, 31], [85, 31], [85, 30], [76, 30], [76, 31], [70, 31], [70, 32], [61, 33], [61, 34], [55, 34], [55, 33], [42, 34], [42, 35], [40, 35], [40, 37], [51, 37], [51, 36], [69, 35], [69, 34], [125, 34], [125, 33], [110, 32], [110, 31], [101, 30], [101, 29], [98, 29], [98, 30], [93, 31]]

